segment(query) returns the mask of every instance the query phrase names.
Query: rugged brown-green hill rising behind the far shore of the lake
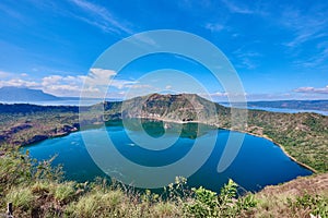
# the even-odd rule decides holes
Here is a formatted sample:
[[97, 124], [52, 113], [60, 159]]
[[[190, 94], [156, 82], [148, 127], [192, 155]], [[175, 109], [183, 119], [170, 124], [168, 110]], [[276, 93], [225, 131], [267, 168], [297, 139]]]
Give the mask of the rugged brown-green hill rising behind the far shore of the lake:
[[209, 122], [215, 119], [218, 111], [227, 112], [226, 108], [195, 94], [152, 94], [126, 100], [120, 108], [106, 108], [110, 118], [121, 112], [120, 118], [166, 119], [177, 122]]

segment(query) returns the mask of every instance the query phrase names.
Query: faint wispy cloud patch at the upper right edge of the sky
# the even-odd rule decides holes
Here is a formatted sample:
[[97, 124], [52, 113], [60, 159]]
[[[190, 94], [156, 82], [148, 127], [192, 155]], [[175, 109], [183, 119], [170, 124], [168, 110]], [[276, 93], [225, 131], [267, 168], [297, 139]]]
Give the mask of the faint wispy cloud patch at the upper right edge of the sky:
[[300, 68], [327, 70], [328, 37], [327, 8], [309, 7], [297, 9], [286, 7], [279, 24], [291, 32], [292, 39], [282, 43], [293, 57], [293, 64]]

